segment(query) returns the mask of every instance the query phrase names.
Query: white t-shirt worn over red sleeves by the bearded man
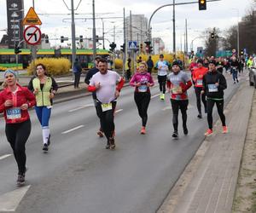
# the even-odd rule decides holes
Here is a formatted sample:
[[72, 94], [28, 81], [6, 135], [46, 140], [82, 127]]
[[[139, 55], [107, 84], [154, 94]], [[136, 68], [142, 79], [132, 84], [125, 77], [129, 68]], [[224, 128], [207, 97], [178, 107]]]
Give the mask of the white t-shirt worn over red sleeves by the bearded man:
[[90, 86], [96, 86], [100, 83], [100, 89], [96, 90], [97, 100], [102, 103], [110, 103], [115, 99], [116, 83], [121, 80], [117, 72], [108, 70], [106, 74], [97, 72], [90, 80]]

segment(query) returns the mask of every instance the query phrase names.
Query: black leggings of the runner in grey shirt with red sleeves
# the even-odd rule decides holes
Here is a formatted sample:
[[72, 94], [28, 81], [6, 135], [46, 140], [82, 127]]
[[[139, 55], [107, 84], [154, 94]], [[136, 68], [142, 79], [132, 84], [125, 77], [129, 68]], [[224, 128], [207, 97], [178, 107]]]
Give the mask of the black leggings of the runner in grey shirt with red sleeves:
[[174, 131], [177, 131], [178, 125], [178, 109], [182, 112], [183, 118], [183, 129], [187, 128], [187, 109], [189, 105], [189, 100], [173, 100], [171, 99], [172, 103], [172, 124]]

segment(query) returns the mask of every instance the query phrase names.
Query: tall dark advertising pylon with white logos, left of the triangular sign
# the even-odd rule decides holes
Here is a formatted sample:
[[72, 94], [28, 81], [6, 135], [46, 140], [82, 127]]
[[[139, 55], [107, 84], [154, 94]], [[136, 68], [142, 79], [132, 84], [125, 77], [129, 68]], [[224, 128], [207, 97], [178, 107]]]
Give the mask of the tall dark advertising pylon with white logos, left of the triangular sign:
[[[14, 49], [15, 44], [18, 44], [23, 39], [24, 3], [23, 0], [6, 0], [6, 6], [8, 45], [10, 49]], [[24, 43], [20, 43], [20, 47], [23, 46]]]

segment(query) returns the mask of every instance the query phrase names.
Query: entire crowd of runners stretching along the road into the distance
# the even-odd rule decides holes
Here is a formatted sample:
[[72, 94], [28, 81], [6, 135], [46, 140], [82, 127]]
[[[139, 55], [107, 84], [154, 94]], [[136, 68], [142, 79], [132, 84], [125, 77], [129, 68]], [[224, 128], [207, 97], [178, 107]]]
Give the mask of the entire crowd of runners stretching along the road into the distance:
[[[148, 61], [137, 61], [137, 72], [131, 76], [131, 60], [127, 60], [129, 84], [134, 87], [134, 101], [137, 106], [139, 117], [142, 119], [140, 134], [146, 134], [148, 123], [148, 106], [151, 100], [150, 88], [154, 86], [151, 75], [153, 68], [157, 70], [157, 80], [160, 89], [160, 101], [165, 101], [166, 91], [170, 94], [172, 105], [172, 138], [178, 138], [178, 112], [181, 111], [183, 134], [188, 135], [187, 110], [189, 106], [188, 89], [194, 85], [198, 118], [202, 118], [202, 107], [207, 113], [208, 129], [206, 136], [212, 135], [212, 109], [216, 105], [218, 115], [222, 122], [223, 133], [228, 132], [224, 116], [224, 89], [227, 88], [225, 72], [233, 76], [234, 83], [239, 83], [237, 73], [243, 72], [244, 67], [252, 66], [252, 58], [237, 60], [234, 55], [229, 60], [213, 57], [209, 59], [193, 58], [189, 65], [189, 72], [183, 71], [183, 62], [174, 60], [171, 64], [160, 55], [154, 64], [151, 57]], [[79, 63], [75, 62], [75, 88], [79, 87], [80, 74]], [[124, 86], [125, 79], [117, 72], [108, 70], [108, 61], [100, 56], [95, 59], [95, 67], [87, 72], [84, 79], [87, 90], [92, 93], [92, 99], [96, 107], [96, 115], [99, 118], [99, 130], [96, 134], [100, 137], [105, 135], [107, 139], [106, 149], [114, 149], [115, 125], [114, 112], [117, 99]], [[50, 144], [49, 118], [53, 99], [58, 85], [54, 78], [49, 77], [43, 64], [36, 66], [36, 75], [28, 83], [28, 87], [22, 87], [17, 82], [17, 74], [13, 70], [4, 72], [3, 91], [0, 93], [0, 113], [3, 112], [6, 126], [5, 134], [13, 149], [18, 165], [17, 184], [25, 183], [26, 174], [26, 141], [31, 133], [31, 121], [28, 108], [34, 107], [38, 121], [42, 126], [43, 150], [47, 152]]]

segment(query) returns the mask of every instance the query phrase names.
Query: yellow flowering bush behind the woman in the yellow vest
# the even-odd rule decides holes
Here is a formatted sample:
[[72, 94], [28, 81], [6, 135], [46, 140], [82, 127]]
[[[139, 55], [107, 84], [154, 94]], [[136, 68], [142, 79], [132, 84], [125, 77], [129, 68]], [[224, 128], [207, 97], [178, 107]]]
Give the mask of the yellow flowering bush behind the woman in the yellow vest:
[[[40, 58], [35, 60], [35, 65], [44, 64], [51, 76], [59, 76], [70, 72], [71, 62], [65, 58]], [[32, 63], [27, 67], [27, 73], [33, 74]]]

